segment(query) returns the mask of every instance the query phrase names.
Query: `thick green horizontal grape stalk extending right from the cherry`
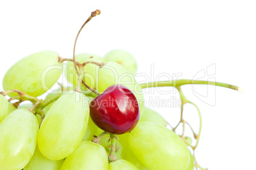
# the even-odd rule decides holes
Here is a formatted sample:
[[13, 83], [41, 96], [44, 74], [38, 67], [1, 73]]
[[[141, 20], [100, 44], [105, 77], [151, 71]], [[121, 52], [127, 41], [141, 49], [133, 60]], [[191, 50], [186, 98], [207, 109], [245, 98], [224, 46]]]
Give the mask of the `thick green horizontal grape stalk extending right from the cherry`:
[[197, 80], [189, 80], [189, 79], [180, 79], [175, 81], [157, 81], [157, 82], [146, 82], [140, 84], [141, 88], [156, 88], [156, 87], [180, 87], [185, 84], [208, 84], [213, 86], [220, 86], [224, 88], [234, 89], [239, 92], [243, 92], [243, 89], [239, 88], [238, 86], [234, 86], [231, 84], [225, 84], [222, 82], [214, 82], [214, 81], [197, 81]]

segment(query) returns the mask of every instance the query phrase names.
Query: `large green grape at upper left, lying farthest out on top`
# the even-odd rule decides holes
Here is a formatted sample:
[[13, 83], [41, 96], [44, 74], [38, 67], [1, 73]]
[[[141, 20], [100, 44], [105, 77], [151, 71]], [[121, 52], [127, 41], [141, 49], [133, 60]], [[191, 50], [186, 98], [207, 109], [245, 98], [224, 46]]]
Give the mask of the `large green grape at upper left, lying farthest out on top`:
[[31, 96], [43, 95], [62, 74], [58, 56], [54, 51], [40, 51], [18, 61], [4, 75], [4, 91], [18, 89]]

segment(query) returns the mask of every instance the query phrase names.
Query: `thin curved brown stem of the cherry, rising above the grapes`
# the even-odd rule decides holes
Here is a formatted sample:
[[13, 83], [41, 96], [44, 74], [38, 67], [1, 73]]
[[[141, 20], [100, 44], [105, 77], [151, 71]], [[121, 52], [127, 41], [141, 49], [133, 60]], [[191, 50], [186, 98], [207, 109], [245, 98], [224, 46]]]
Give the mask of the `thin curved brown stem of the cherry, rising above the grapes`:
[[[75, 70], [76, 70], [76, 74], [78, 75], [78, 77], [80, 77], [80, 73], [78, 72], [78, 69], [76, 67], [76, 56], [75, 56], [75, 51], [76, 51], [76, 41], [78, 39], [78, 36], [80, 34], [80, 32], [82, 31], [83, 27], [85, 26], [86, 23], [88, 23], [94, 16], [100, 15], [101, 11], [100, 10], [96, 10], [94, 12], [91, 13], [90, 17], [85, 21], [85, 23], [83, 23], [81, 29], [78, 31], [78, 34], [76, 36], [76, 40], [75, 40], [75, 44], [74, 44], [74, 50], [73, 50], [73, 62], [75, 65]], [[85, 81], [82, 81], [83, 85], [85, 85], [85, 87], [87, 87], [88, 89], [90, 89], [90, 91], [94, 92], [96, 95], [100, 95], [97, 91], [95, 91], [94, 89], [90, 88]], [[80, 84], [78, 84], [78, 86], [80, 86]], [[78, 87], [78, 89], [80, 89], [80, 87]], [[79, 91], [80, 92], [80, 91]]]

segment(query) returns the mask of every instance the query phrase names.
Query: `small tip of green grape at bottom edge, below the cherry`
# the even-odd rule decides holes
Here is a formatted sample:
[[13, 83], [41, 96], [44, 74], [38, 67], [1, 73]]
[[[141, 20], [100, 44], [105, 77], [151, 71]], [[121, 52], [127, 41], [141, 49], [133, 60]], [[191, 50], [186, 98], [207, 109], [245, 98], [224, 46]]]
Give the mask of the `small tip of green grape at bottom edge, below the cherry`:
[[117, 160], [108, 164], [109, 170], [139, 170], [134, 164], [127, 160]]

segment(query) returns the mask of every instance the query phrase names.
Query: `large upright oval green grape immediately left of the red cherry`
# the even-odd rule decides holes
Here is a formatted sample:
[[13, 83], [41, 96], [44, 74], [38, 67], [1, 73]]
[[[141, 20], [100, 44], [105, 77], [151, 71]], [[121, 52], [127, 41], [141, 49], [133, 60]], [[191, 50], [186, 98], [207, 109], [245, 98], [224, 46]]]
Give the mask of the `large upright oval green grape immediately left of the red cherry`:
[[85, 95], [69, 91], [60, 96], [48, 110], [39, 129], [41, 154], [52, 160], [67, 157], [82, 141], [88, 119], [89, 105]]

